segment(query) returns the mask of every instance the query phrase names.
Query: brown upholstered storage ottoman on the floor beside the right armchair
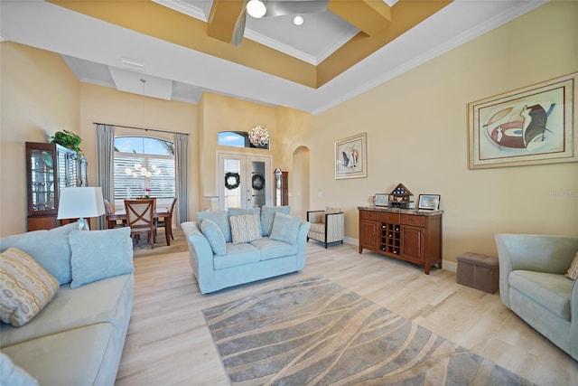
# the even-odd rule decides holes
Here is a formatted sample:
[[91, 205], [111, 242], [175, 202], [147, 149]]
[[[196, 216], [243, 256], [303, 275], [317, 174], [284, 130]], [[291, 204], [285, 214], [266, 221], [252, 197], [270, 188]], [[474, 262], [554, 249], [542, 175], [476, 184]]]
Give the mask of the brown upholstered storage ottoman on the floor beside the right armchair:
[[458, 284], [493, 294], [499, 288], [498, 259], [466, 252], [456, 258]]

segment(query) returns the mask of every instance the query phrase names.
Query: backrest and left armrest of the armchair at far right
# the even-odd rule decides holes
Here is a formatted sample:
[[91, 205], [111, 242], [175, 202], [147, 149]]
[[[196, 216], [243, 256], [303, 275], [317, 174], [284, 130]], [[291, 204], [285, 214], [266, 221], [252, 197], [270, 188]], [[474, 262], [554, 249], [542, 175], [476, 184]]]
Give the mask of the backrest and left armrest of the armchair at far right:
[[523, 269], [564, 275], [578, 250], [578, 237], [508, 234], [494, 236], [499, 259], [499, 296], [509, 307], [509, 274]]

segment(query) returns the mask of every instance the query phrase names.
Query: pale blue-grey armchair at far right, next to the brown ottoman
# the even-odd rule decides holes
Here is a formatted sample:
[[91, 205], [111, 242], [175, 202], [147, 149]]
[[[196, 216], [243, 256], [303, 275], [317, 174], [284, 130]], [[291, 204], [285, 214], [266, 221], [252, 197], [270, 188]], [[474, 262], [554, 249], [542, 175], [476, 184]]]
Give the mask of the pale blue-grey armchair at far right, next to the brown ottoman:
[[495, 240], [502, 302], [578, 361], [578, 280], [564, 276], [578, 237], [497, 234]]

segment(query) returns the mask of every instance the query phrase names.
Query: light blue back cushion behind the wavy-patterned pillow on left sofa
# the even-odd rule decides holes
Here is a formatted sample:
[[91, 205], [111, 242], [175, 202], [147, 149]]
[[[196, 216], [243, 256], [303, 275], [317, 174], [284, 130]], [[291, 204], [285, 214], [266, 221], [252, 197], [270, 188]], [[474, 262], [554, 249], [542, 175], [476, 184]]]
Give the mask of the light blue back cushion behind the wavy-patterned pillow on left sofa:
[[70, 283], [69, 233], [79, 229], [77, 222], [50, 231], [30, 231], [0, 239], [0, 252], [14, 247], [29, 254], [59, 283]]

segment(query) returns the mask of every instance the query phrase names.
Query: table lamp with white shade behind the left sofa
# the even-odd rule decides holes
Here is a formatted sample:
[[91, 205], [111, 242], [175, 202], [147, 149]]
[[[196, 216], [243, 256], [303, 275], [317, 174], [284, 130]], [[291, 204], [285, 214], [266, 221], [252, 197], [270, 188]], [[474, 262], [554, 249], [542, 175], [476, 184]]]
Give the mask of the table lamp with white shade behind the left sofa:
[[105, 214], [102, 189], [99, 187], [62, 188], [57, 219], [79, 219], [79, 230], [89, 231], [86, 218]]

